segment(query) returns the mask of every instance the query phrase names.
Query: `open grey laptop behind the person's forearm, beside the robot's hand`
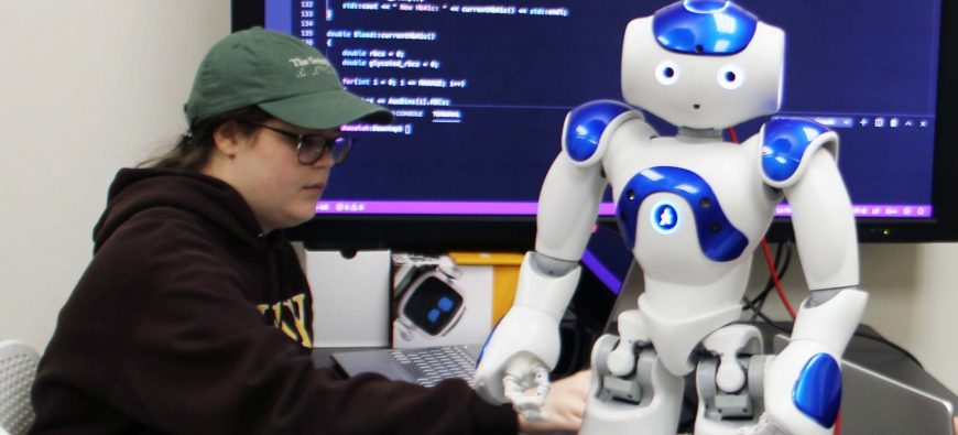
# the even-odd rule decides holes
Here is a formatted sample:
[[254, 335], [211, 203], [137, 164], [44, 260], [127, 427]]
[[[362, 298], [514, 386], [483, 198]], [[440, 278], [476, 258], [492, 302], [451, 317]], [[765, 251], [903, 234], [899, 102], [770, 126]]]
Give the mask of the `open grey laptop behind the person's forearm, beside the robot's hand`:
[[475, 387], [476, 361], [481, 345], [439, 346], [418, 349], [372, 349], [334, 352], [334, 363], [346, 374], [379, 373], [389, 379], [434, 387], [444, 379], [459, 378]]

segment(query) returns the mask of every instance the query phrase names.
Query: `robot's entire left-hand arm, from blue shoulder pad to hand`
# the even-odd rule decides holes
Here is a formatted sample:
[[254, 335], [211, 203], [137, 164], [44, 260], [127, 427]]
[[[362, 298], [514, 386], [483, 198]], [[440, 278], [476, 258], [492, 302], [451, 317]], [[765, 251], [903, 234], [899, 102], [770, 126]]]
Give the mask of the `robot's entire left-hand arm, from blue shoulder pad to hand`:
[[535, 251], [525, 255], [512, 308], [487, 341], [476, 370], [477, 390], [486, 400], [512, 401], [525, 411], [522, 390], [532, 387], [538, 373], [540, 396], [526, 409], [544, 401], [547, 377], [543, 373], [558, 360], [559, 320], [578, 284], [578, 260], [606, 187], [601, 157], [609, 132], [621, 119], [635, 116], [641, 115], [624, 105], [596, 101], [573, 110], [566, 119], [563, 153], [553, 162], [540, 194]]

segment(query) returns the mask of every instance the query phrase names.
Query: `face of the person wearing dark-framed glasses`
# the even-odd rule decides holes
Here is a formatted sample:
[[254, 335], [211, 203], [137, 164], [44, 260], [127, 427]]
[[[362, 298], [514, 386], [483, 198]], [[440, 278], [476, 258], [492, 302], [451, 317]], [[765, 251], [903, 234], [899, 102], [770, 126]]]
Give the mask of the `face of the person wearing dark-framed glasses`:
[[297, 138], [287, 133], [320, 134], [331, 140], [339, 131], [306, 130], [277, 119], [260, 126], [251, 134], [240, 137], [235, 154], [229, 157], [231, 180], [227, 182], [247, 200], [263, 232], [269, 232], [314, 216], [334, 164], [329, 151], [313, 164], [300, 163]]

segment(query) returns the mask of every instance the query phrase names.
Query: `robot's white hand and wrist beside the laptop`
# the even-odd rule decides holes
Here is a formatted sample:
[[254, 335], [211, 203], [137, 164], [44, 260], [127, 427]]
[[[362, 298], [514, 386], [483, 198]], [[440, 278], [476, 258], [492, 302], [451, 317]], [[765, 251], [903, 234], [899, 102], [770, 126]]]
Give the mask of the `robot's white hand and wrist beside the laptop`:
[[[482, 350], [476, 389], [489, 402], [512, 402], [526, 420], [541, 420], [548, 372], [558, 354], [558, 322], [531, 307], [513, 306]], [[530, 389], [534, 390], [531, 395], [526, 394]]]

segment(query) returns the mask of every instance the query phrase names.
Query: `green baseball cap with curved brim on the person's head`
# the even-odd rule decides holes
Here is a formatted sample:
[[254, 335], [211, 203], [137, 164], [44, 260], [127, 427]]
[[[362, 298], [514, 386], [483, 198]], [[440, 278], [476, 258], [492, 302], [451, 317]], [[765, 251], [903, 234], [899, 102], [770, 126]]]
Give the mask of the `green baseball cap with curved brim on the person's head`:
[[316, 48], [262, 28], [230, 34], [209, 50], [184, 110], [192, 128], [250, 106], [307, 129], [392, 122], [387, 108], [347, 91], [333, 64]]

